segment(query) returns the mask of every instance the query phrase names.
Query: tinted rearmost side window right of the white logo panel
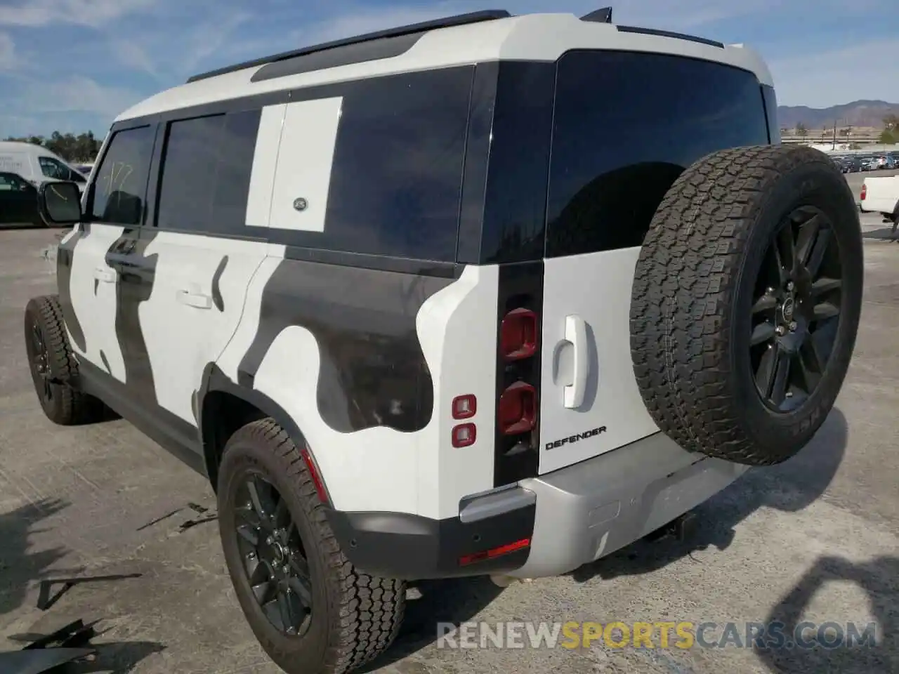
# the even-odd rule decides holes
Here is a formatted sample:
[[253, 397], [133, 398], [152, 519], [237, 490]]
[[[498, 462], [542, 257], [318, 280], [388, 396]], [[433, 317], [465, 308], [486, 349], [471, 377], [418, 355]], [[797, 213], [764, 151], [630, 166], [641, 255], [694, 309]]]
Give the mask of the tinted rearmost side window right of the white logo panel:
[[278, 243], [454, 262], [473, 67], [334, 87], [343, 97], [325, 231]]

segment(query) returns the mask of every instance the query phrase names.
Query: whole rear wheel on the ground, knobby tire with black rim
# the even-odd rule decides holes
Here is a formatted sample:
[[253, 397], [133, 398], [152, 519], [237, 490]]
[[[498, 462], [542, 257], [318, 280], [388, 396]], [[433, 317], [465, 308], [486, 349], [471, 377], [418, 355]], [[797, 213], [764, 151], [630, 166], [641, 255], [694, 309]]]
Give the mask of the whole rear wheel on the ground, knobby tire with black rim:
[[347, 560], [298, 448], [271, 419], [227, 442], [218, 526], [237, 600], [282, 670], [343, 674], [393, 643], [405, 583]]

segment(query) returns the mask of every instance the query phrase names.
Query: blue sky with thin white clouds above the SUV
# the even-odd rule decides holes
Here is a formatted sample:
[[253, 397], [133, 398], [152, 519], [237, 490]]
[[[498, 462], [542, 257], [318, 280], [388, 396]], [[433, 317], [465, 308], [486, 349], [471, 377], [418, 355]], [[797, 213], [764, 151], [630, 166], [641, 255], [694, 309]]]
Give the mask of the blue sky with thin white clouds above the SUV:
[[[617, 23], [761, 51], [779, 102], [899, 102], [896, 0], [611, 0]], [[0, 137], [93, 129], [195, 73], [441, 15], [600, 0], [0, 0]]]

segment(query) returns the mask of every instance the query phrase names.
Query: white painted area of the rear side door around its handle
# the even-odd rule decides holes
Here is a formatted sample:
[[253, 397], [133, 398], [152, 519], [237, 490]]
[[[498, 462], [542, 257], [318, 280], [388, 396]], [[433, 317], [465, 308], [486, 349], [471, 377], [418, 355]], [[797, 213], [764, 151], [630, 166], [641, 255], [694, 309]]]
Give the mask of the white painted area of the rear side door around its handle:
[[[138, 306], [159, 404], [196, 425], [191, 398], [203, 371], [237, 329], [247, 287], [266, 244], [215, 236], [159, 232], [147, 245], [156, 255], [153, 293]], [[218, 275], [221, 308], [213, 281]]]

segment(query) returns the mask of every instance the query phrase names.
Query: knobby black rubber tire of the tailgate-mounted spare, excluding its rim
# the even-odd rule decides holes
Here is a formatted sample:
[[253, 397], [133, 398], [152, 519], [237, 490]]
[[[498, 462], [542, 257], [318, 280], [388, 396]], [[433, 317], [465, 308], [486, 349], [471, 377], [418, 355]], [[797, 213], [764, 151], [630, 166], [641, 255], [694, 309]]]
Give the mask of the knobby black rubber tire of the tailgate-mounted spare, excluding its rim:
[[[832, 220], [843, 270], [841, 320], [814, 393], [797, 409], [778, 413], [755, 390], [741, 321], [751, 314], [770, 236], [806, 205]], [[760, 466], [792, 457], [840, 392], [862, 284], [859, 215], [827, 155], [803, 146], [757, 146], [704, 157], [665, 195], [636, 263], [630, 343], [646, 409], [690, 451]]]

